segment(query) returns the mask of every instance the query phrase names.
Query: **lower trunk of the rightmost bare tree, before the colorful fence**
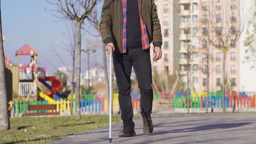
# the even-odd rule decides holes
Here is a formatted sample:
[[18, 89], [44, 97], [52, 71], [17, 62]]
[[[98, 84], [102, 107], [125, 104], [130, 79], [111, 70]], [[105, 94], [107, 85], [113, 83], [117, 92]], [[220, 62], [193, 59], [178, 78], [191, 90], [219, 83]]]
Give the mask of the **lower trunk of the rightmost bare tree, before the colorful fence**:
[[226, 104], [225, 104], [225, 76], [226, 76], [226, 52], [223, 52], [223, 64], [222, 64], [222, 111], [226, 111]]

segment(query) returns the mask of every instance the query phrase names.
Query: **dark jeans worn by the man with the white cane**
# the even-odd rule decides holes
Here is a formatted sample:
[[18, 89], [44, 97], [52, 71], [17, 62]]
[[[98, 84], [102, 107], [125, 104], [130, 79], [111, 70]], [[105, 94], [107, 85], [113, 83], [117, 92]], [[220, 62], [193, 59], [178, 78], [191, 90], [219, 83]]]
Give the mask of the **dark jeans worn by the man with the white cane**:
[[141, 92], [141, 115], [146, 117], [152, 113], [153, 89], [152, 69], [150, 62], [150, 49], [142, 50], [142, 47], [128, 48], [126, 53], [114, 53], [113, 55], [115, 77], [119, 93], [119, 105], [121, 118], [126, 124], [134, 124], [132, 121], [133, 109], [131, 101], [131, 70], [132, 67], [138, 81]]

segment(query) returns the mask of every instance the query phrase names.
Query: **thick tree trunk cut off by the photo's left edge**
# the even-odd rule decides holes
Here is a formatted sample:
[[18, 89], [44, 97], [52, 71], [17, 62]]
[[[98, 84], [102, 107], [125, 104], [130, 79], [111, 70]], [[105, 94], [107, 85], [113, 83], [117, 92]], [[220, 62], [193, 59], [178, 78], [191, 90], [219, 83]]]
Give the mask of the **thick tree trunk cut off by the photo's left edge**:
[[5, 86], [5, 63], [3, 50], [3, 35], [2, 35], [2, 16], [1, 16], [1, 1], [0, 1], [0, 130], [10, 129], [10, 121], [8, 116], [8, 101], [7, 91]]

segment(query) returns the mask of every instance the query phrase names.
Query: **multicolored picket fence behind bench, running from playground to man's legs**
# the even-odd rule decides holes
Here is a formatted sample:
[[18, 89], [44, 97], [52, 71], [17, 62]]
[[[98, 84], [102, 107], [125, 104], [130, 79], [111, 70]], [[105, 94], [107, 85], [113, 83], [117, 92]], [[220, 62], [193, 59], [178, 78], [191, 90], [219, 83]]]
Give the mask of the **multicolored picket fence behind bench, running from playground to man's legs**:
[[[45, 110], [45, 111], [28, 111], [28, 105], [30, 104], [56, 104], [56, 110]], [[60, 113], [69, 113], [70, 112], [70, 100], [57, 100], [53, 103], [48, 101], [10, 101], [9, 102], [9, 110], [13, 114], [19, 113], [34, 113], [34, 112], [60, 112]], [[76, 100], [73, 101], [73, 112], [76, 112]], [[132, 99], [133, 111], [140, 111], [141, 107], [139, 105], [139, 99]], [[97, 99], [97, 100], [81, 100], [81, 113], [101, 113], [108, 112], [108, 101], [107, 99]], [[119, 112], [119, 103], [118, 99], [113, 99], [113, 112]]]

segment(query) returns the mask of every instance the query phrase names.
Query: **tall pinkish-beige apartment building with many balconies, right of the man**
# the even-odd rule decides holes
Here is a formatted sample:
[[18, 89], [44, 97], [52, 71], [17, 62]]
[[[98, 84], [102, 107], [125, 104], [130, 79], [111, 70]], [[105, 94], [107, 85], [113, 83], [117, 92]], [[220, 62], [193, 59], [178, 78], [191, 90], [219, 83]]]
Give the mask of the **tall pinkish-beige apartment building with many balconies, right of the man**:
[[[152, 61], [153, 71], [173, 74], [178, 70], [184, 82], [189, 76], [196, 91], [205, 91], [210, 73], [210, 91], [220, 90], [223, 79], [223, 53], [216, 34], [207, 40], [209, 27], [203, 19], [211, 19], [214, 29], [222, 33], [230, 32], [229, 50], [226, 53], [226, 81], [234, 91], [240, 90], [240, 43], [235, 34], [240, 31], [240, 3], [242, 0], [155, 0], [163, 34], [162, 59]], [[211, 14], [209, 11], [211, 10]], [[210, 15], [210, 16], [209, 16]], [[210, 21], [210, 20], [209, 20]], [[207, 28], [206, 28], [207, 27]], [[230, 31], [229, 31], [230, 30]], [[215, 31], [215, 30], [214, 30]], [[216, 37], [216, 38], [215, 38]], [[213, 45], [214, 44], [214, 45]], [[217, 49], [219, 48], [219, 49]], [[211, 61], [205, 65], [209, 50]], [[191, 57], [190, 57], [191, 56]], [[189, 59], [190, 58], [190, 59]], [[189, 59], [189, 61], [188, 61]], [[187, 75], [187, 71], [191, 73]], [[153, 72], [154, 73], [154, 72]]]

